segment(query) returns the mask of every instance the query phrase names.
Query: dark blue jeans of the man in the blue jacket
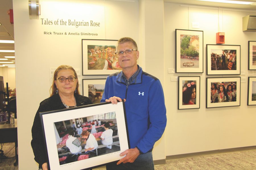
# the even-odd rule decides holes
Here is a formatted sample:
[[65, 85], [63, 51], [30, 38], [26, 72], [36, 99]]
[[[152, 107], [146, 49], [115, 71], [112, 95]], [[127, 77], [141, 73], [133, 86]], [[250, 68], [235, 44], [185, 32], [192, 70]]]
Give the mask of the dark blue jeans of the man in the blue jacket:
[[133, 163], [121, 163], [116, 165], [113, 162], [106, 165], [107, 170], [154, 170], [152, 152], [140, 154]]

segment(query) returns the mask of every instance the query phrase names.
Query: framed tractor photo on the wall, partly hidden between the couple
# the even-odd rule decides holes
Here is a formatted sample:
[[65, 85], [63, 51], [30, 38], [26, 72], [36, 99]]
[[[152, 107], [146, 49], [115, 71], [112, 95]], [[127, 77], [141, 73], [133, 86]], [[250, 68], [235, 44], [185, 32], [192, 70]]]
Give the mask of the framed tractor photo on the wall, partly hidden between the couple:
[[91, 99], [93, 104], [100, 103], [104, 93], [106, 78], [83, 79], [83, 96]]

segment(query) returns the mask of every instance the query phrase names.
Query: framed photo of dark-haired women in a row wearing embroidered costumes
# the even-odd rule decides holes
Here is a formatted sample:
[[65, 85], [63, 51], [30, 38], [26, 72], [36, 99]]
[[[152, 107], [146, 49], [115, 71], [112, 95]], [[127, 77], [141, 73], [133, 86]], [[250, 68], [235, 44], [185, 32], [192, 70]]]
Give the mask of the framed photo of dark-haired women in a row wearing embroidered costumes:
[[206, 78], [206, 108], [240, 106], [241, 77]]

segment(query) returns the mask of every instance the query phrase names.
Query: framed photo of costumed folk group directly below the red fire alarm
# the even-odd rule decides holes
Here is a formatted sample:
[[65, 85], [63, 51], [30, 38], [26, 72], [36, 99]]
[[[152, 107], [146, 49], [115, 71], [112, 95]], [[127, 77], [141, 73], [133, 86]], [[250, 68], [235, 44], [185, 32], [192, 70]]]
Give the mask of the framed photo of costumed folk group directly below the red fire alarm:
[[207, 75], [240, 75], [240, 45], [206, 44]]

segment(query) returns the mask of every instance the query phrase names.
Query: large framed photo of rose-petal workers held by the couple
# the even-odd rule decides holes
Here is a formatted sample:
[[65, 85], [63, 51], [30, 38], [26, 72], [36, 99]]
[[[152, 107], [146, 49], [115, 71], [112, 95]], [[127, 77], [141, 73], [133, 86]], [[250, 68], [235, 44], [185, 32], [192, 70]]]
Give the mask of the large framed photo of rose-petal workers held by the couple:
[[[49, 167], [61, 170], [90, 169], [123, 158], [120, 153], [130, 148], [124, 108], [122, 101], [117, 105], [98, 103], [41, 112]], [[97, 123], [95, 126], [96, 120], [101, 120], [100, 126]], [[113, 129], [112, 143], [104, 144], [99, 138], [106, 135], [103, 124]], [[118, 135], [114, 134], [117, 129]]]

